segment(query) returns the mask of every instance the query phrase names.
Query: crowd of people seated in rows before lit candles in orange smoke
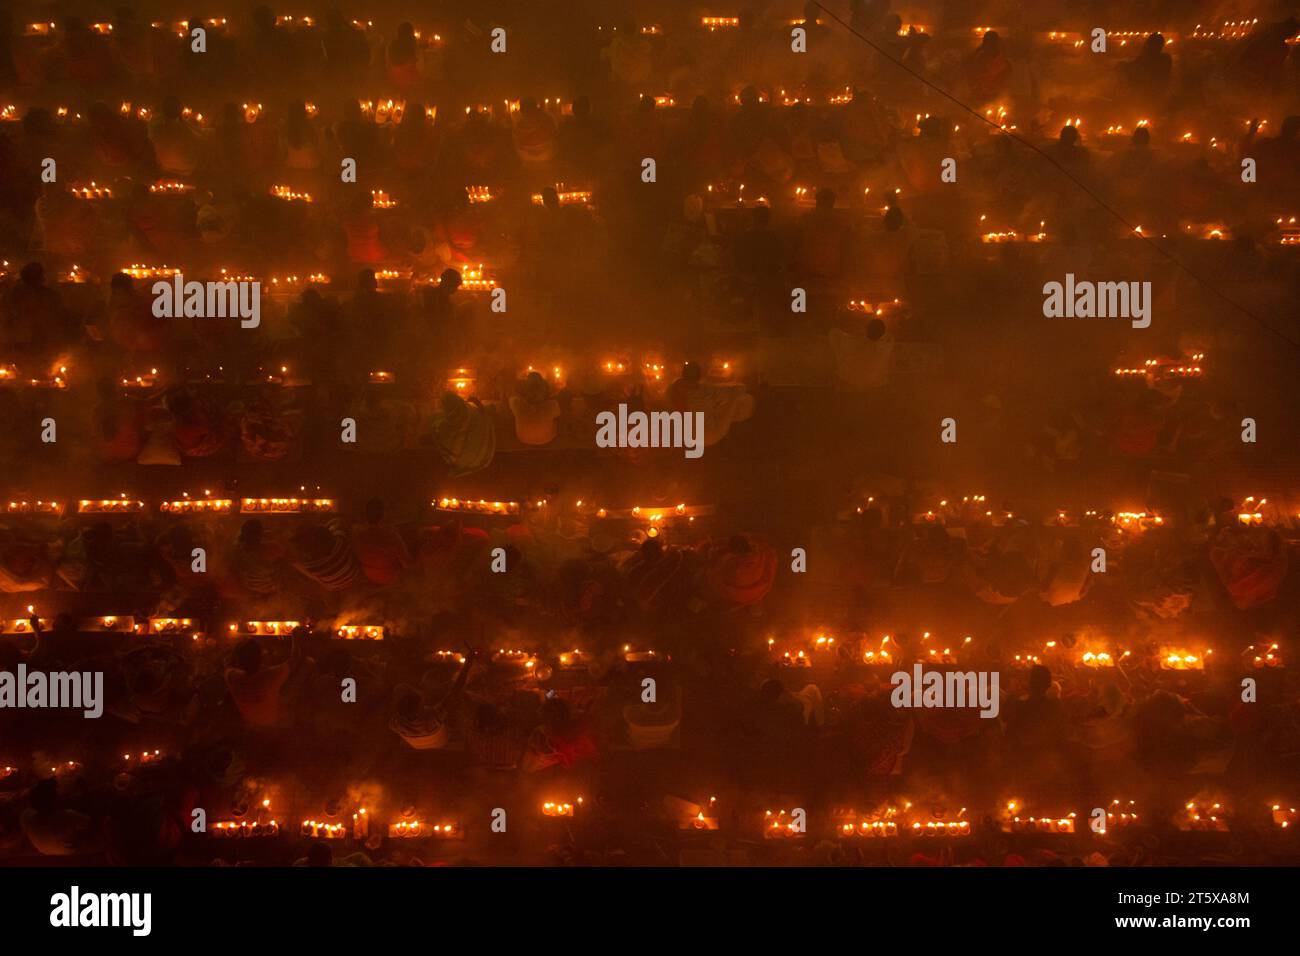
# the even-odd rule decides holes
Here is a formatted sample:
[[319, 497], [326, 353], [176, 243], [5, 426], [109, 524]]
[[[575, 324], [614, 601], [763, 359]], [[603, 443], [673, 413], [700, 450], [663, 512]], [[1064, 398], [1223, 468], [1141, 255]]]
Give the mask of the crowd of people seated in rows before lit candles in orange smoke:
[[[3, 617], [23, 624], [0, 636], [0, 670], [105, 675], [100, 722], [0, 717], [0, 856], [229, 862], [230, 843], [192, 831], [195, 808], [226, 816], [277, 787], [277, 806], [313, 817], [381, 780], [393, 810], [425, 778], [464, 819], [485, 818], [494, 787], [584, 788], [610, 826], [541, 840], [559, 862], [670, 860], [670, 778], [698, 780], [701, 803], [716, 784], [746, 812], [798, 795], [823, 819], [849, 791], [984, 813], [1011, 788], [1080, 810], [1132, 795], [1169, 822], [1213, 791], [1240, 808], [1243, 834], [1269, 834], [1254, 810], [1295, 778], [1297, 697], [1287, 667], [1257, 658], [1294, 649], [1294, 524], [1242, 522], [1254, 505], [1225, 497], [1219, 472], [1243, 460], [1257, 365], [1260, 381], [1295, 369], [1197, 282], [1296, 330], [1300, 23], [1270, 8], [1242, 36], [1197, 42], [1195, 18], [1165, 10], [1173, 43], [1143, 23], [1102, 61], [1074, 33], [1048, 36], [1088, 43], [1091, 25], [1056, 10], [1000, 7], [988, 29], [962, 5], [919, 26], [889, 0], [853, 0], [842, 22], [774, 4], [706, 29], [618, 4], [519, 13], [517, 53], [493, 59], [495, 21], [463, 7], [437, 23], [264, 5], [156, 25], [131, 7], [101, 23], [4, 20], [8, 484], [99, 497], [104, 475], [178, 489], [238, 472], [213, 481], [238, 499], [296, 486], [299, 470], [374, 480], [318, 515], [0, 514]], [[792, 23], [809, 30], [803, 59]], [[1141, 355], [1208, 349], [1221, 377], [1117, 382], [1131, 341], [1028, 329], [1040, 278], [1134, 264], [1167, 280]], [[260, 325], [157, 317], [153, 282], [177, 269], [260, 281]], [[992, 449], [976, 455], [982, 486], [1052, 490], [959, 519], [939, 506], [950, 463], [909, 457], [909, 416], [931, 429], [954, 397], [976, 410], [962, 440]], [[680, 451], [594, 446], [595, 414], [619, 403], [703, 414], [701, 470], [732, 468], [716, 515], [675, 518], [671, 502], [660, 524], [559, 503], [582, 497], [569, 492], [589, 470], [650, 476], [667, 501], [655, 476]], [[56, 464], [32, 424], [47, 415], [70, 455]], [[1270, 449], [1284, 473], [1286, 450]], [[429, 483], [523, 471], [540, 506], [430, 512], [425, 485], [372, 497], [426, 466]], [[827, 489], [863, 466], [879, 480], [837, 519]], [[1074, 480], [1100, 496], [1089, 506], [1119, 507], [1154, 475], [1182, 483], [1158, 525], [1057, 520], [1043, 501]], [[803, 548], [806, 574], [788, 557]], [[192, 626], [83, 623], [104, 615]], [[351, 626], [385, 635], [342, 640]], [[803, 644], [819, 628], [838, 636], [828, 654]], [[788, 663], [786, 644], [815, 665]], [[1202, 644], [1214, 666], [1160, 666], [1166, 645]], [[1093, 645], [1132, 659], [1080, 665]], [[952, 649], [1000, 670], [997, 719], [890, 706], [893, 667], [866, 662], [883, 646], [900, 666]], [[1243, 675], [1258, 702], [1242, 700]], [[133, 763], [146, 747], [165, 758]], [[611, 758], [642, 749], [675, 771]], [[333, 847], [289, 830], [257, 844], [260, 862], [430, 855], [378, 829]], [[996, 832], [900, 860], [819, 836], [763, 852], [961, 865], [1200, 852], [1176, 836], [1062, 848]], [[1262, 862], [1261, 843], [1223, 852]]]

